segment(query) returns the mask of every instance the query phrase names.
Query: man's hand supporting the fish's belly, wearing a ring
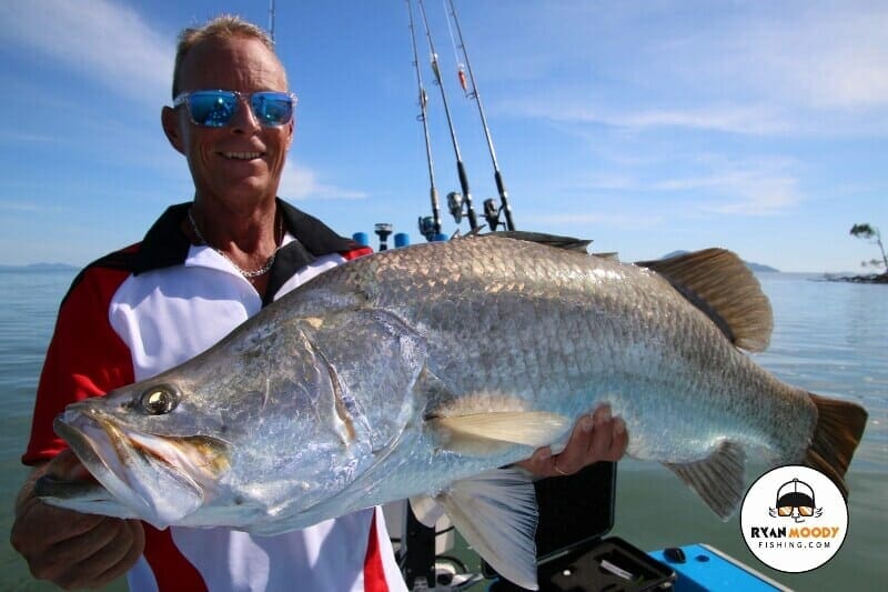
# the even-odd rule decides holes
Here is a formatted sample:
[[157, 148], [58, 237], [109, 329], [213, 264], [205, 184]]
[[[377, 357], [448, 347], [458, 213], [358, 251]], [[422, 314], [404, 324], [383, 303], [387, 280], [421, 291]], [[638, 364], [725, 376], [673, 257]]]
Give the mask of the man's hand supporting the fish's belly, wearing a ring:
[[618, 461], [626, 453], [628, 440], [623, 420], [612, 418], [610, 408], [602, 405], [576, 422], [561, 453], [553, 455], [548, 446], [541, 448], [516, 464], [536, 476], [569, 475], [598, 461]]

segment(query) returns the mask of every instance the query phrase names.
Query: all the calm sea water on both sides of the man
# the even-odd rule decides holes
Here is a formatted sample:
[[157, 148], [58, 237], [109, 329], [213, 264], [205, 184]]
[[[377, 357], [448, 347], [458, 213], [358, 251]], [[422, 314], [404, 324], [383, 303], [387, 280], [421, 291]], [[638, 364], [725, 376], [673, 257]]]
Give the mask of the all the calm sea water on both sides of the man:
[[[0, 590], [52, 590], [30, 578], [8, 533], [27, 474], [33, 393], [59, 302], [74, 271], [0, 271]], [[857, 401], [869, 412], [847, 476], [849, 533], [838, 554], [805, 574], [784, 574], [748, 552], [737, 519], [723, 523], [669, 471], [623, 461], [612, 534], [645, 550], [706, 542], [797, 590], [879, 590], [888, 582], [888, 287], [814, 281], [815, 275], [761, 273], [771, 300], [771, 345], [756, 361], [785, 381]], [[755, 462], [749, 481], [764, 472]], [[109, 586], [123, 590], [122, 582]]]

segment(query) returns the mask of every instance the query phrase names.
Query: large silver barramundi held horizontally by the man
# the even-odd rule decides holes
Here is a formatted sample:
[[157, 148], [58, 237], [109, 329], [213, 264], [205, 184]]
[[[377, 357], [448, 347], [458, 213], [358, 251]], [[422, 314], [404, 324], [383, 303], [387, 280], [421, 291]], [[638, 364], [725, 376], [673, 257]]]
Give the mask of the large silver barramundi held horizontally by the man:
[[[666, 464], [723, 519], [747, 449], [842, 478], [858, 405], [785, 384], [771, 312], [733, 253], [623, 264], [541, 235], [365, 257], [315, 278], [193, 360], [56, 422], [98, 480], [44, 478], [77, 510], [272, 534], [434, 499], [502, 574], [535, 584], [531, 478], [609, 404], [628, 454]], [[845, 491], [845, 490], [844, 490]]]

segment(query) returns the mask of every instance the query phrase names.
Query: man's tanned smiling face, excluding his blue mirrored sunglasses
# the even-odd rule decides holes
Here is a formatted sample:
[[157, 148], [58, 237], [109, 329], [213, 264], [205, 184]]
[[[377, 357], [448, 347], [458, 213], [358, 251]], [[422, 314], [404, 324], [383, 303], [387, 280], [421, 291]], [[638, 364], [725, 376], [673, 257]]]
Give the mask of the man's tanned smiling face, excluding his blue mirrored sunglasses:
[[[211, 41], [192, 48], [185, 57], [179, 91], [216, 89], [285, 91], [286, 76], [259, 40]], [[163, 123], [170, 142], [188, 158], [196, 195], [229, 209], [251, 208], [275, 197], [293, 139], [292, 121], [262, 127], [242, 100], [223, 128], [192, 123], [184, 104], [174, 111], [164, 109]]]

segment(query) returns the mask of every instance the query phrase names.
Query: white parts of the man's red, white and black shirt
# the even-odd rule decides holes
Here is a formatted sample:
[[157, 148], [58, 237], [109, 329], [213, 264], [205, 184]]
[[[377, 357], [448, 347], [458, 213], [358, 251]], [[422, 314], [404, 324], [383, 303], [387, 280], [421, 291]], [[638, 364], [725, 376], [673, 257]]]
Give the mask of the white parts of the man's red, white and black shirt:
[[[287, 235], [285, 242], [292, 240]], [[274, 298], [344, 261], [339, 254], [319, 258], [291, 278]], [[128, 278], [115, 293], [109, 315], [111, 325], [132, 352], [138, 381], [201, 353], [261, 308], [259, 293], [230, 261], [211, 248], [192, 247], [182, 267]], [[363, 510], [275, 536], [252, 536], [224, 528], [180, 526], [173, 526], [171, 534], [213, 592], [357, 592], [364, 589], [364, 558], [374, 511]], [[382, 512], [376, 532], [389, 585], [393, 591], [406, 590], [391, 552]], [[142, 558], [129, 575], [130, 589], [157, 590], [150, 572]]]

